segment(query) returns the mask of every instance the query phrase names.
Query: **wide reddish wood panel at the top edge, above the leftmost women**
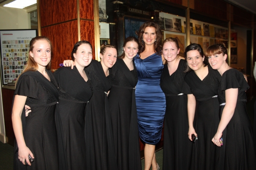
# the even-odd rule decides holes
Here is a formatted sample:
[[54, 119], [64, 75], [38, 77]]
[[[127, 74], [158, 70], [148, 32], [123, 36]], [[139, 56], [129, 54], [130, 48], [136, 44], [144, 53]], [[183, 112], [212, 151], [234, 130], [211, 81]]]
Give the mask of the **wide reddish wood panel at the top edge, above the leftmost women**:
[[41, 27], [77, 18], [76, 0], [40, 0]]

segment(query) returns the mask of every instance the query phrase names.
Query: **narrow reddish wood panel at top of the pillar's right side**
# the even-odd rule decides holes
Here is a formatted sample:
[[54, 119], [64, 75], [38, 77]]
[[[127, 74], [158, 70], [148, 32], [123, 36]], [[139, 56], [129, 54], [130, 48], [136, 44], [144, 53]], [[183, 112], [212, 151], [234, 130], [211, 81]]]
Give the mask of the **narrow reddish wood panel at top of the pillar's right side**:
[[79, 0], [79, 10], [80, 18], [94, 20], [93, 0]]

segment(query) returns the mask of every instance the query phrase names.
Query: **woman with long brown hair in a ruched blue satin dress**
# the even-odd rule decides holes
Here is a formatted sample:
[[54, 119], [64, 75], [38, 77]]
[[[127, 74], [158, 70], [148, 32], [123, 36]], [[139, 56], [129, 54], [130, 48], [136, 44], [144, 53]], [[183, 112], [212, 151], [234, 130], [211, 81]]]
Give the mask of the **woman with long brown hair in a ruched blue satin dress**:
[[134, 57], [138, 72], [135, 90], [140, 139], [145, 143], [145, 170], [159, 170], [155, 158], [155, 145], [161, 139], [163, 119], [166, 110], [165, 95], [160, 88], [160, 77], [164, 58], [162, 51], [162, 31], [148, 21], [136, 31], [139, 52]]

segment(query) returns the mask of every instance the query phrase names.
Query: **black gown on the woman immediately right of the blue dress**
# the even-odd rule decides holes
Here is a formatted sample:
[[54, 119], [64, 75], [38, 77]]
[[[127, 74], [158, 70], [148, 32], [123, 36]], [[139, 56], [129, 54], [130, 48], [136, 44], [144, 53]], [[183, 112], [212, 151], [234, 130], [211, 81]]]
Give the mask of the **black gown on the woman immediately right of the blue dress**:
[[168, 65], [163, 68], [160, 86], [166, 95], [163, 137], [163, 170], [188, 170], [192, 142], [188, 138], [187, 94], [184, 89], [186, 60], [180, 59], [170, 76]]

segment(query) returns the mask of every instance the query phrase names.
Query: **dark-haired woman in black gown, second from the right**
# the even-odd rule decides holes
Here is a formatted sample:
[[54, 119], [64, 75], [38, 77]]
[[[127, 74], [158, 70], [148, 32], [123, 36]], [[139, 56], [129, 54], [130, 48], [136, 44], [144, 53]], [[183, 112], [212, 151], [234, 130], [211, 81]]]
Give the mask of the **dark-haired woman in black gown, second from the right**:
[[199, 44], [190, 44], [185, 49], [187, 61], [184, 78], [192, 94], [188, 94], [189, 139], [198, 137], [193, 144], [191, 170], [211, 170], [218, 167], [218, 147], [212, 144], [219, 123], [217, 89], [220, 74], [208, 65]]

